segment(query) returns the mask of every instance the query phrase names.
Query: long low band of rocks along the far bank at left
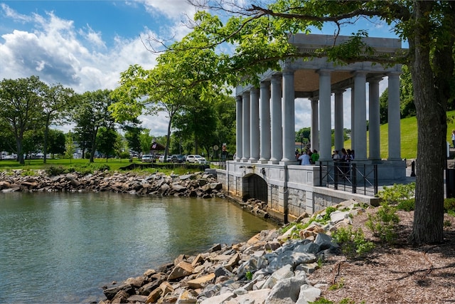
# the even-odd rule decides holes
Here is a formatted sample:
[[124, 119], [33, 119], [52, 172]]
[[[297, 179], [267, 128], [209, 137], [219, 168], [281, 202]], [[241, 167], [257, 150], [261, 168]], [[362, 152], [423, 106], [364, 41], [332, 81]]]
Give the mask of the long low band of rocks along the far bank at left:
[[0, 172], [1, 192], [117, 192], [138, 195], [191, 196], [210, 198], [223, 196], [222, 184], [214, 174], [167, 176], [157, 172], [141, 176], [134, 172], [95, 172], [82, 175], [77, 172], [48, 177], [44, 171], [36, 175], [23, 175], [22, 170]]

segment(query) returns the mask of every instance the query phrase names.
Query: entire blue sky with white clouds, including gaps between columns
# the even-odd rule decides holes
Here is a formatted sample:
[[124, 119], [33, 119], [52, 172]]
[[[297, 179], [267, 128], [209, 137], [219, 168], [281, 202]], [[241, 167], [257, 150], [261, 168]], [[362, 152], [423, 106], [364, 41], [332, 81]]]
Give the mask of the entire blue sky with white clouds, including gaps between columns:
[[[0, 79], [38, 75], [77, 93], [114, 89], [129, 65], [153, 68], [156, 63], [141, 38], [180, 40], [194, 11], [186, 0], [0, 1]], [[370, 36], [394, 36], [384, 24], [361, 23]], [[353, 31], [345, 28], [343, 34]], [[309, 103], [296, 103], [296, 130], [309, 126], [309, 109]], [[164, 115], [141, 119], [153, 135], [166, 134]]]

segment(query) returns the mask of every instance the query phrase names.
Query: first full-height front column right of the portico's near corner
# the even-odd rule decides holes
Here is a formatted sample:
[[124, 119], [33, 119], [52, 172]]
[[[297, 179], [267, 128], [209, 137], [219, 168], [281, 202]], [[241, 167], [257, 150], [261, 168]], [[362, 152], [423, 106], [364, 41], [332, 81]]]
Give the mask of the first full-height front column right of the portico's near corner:
[[332, 113], [331, 113], [331, 73], [329, 70], [319, 70], [319, 159], [331, 159], [332, 151]]

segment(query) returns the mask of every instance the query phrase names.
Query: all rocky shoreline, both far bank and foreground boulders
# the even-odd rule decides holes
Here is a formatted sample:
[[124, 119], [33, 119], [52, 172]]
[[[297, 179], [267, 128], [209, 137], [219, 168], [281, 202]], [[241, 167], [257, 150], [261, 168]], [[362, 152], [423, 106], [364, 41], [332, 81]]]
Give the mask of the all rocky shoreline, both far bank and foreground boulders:
[[[1, 192], [117, 192], [136, 195], [227, 197], [221, 184], [210, 172], [181, 176], [134, 172], [125, 174], [95, 172], [60, 174], [47, 177], [45, 172], [26, 176], [21, 170], [0, 172]], [[239, 202], [242, 208], [267, 218], [267, 204], [250, 200]], [[331, 231], [350, 224], [360, 207], [346, 201], [330, 214], [329, 224], [316, 221], [302, 230], [262, 231], [249, 241], [214, 244], [197, 256], [181, 254], [173, 263], [146, 271], [103, 288], [107, 303], [299, 303], [316, 300], [325, 281], [307, 278], [328, 256], [341, 253], [331, 239]], [[341, 211], [341, 209], [343, 211]], [[314, 216], [323, 216], [324, 213]], [[298, 221], [309, 222], [304, 214]]]

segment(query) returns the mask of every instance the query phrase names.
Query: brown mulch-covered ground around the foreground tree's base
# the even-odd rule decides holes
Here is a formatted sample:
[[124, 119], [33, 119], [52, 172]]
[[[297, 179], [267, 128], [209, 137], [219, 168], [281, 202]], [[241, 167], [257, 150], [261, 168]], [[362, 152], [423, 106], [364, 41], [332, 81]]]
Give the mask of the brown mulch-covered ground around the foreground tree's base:
[[[360, 261], [334, 256], [309, 276], [328, 283], [321, 297], [333, 303], [455, 303], [455, 218], [444, 216], [444, 243], [417, 248], [407, 244], [413, 211], [397, 214], [398, 245], [375, 242], [373, 252]], [[362, 227], [366, 239], [378, 241], [365, 227], [367, 219], [366, 212], [355, 216], [353, 228]]]

